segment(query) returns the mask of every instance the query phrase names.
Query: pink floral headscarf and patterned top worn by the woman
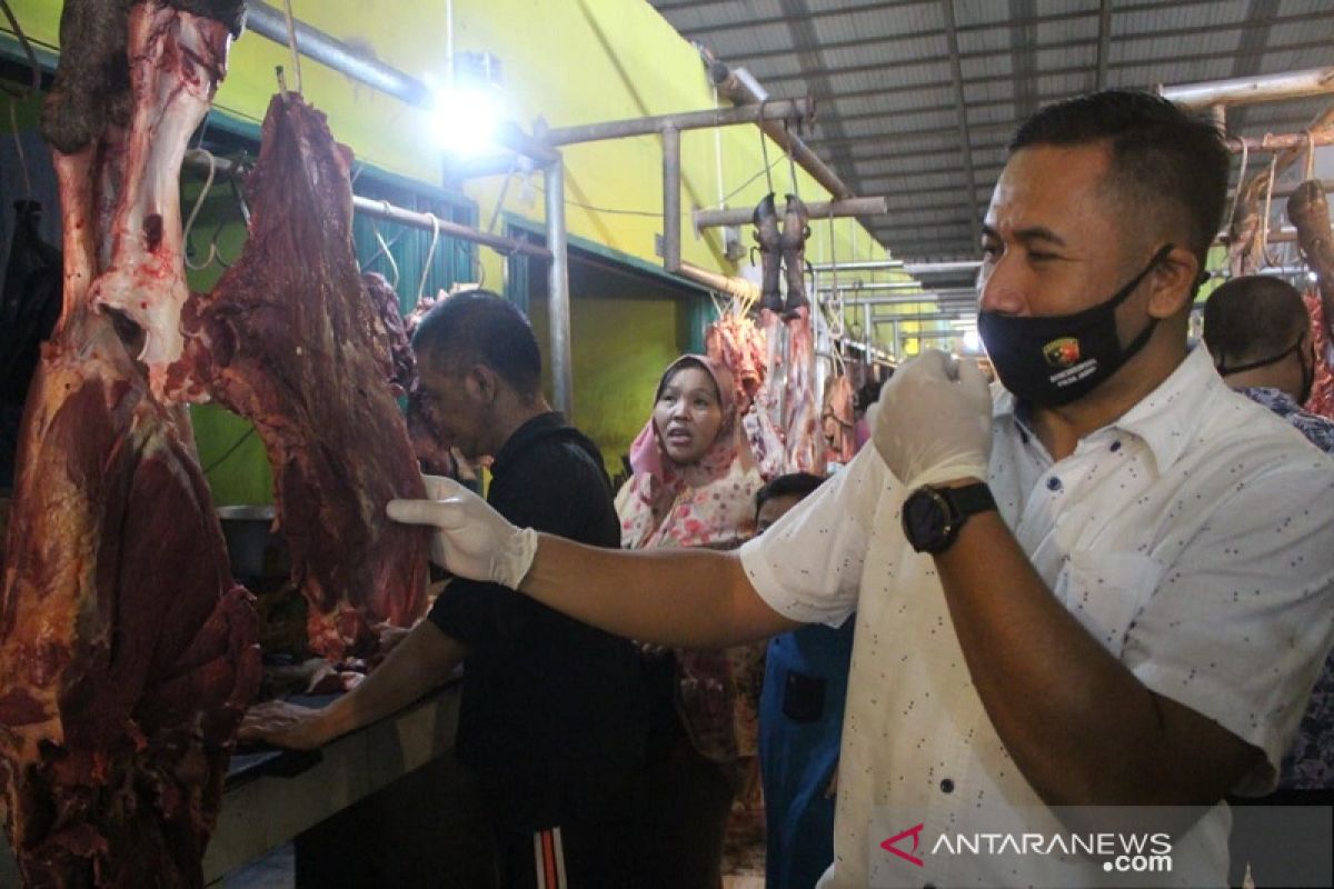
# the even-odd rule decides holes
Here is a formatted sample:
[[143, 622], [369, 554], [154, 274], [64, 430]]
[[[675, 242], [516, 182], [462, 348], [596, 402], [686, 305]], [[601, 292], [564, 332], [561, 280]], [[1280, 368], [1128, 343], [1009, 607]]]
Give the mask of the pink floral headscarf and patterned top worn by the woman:
[[[652, 417], [630, 450], [634, 476], [616, 496], [620, 545], [731, 549], [755, 525], [755, 493], [764, 484], [740, 416], [732, 373], [720, 361], [687, 355], [663, 373], [658, 392], [683, 363], [696, 363], [718, 385], [723, 424], [699, 461], [667, 458]], [[658, 393], [654, 395], [658, 401]], [[695, 749], [734, 762], [758, 749], [763, 642], [719, 650], [676, 649], [676, 709]]]

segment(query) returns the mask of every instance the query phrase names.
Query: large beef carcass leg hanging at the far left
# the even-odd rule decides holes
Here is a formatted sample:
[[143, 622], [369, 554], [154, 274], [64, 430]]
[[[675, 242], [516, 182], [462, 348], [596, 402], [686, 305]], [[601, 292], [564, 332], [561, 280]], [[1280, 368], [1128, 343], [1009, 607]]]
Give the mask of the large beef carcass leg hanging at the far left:
[[[136, 64], [132, 100], [157, 113], [136, 113], [127, 139], [123, 100], [107, 89], [117, 53], [125, 64], [124, 7], [67, 0], [43, 120], [60, 184], [63, 313], [27, 403], [0, 586], [0, 784], [32, 886], [201, 885], [235, 728], [260, 678], [251, 597], [232, 581], [180, 412], [152, 397], [139, 344], [127, 348], [133, 325], [91, 299], [108, 273], [107, 232], [136, 213], [120, 171], [175, 181], [177, 169], [136, 169], [164, 153], [133, 147], [188, 136], [236, 19], [144, 3], [128, 21], [131, 56], [155, 65]], [[163, 200], [169, 217], [173, 199]], [[179, 271], [153, 225], [140, 235], [155, 268]], [[136, 297], [171, 299], [159, 283], [141, 280]]]

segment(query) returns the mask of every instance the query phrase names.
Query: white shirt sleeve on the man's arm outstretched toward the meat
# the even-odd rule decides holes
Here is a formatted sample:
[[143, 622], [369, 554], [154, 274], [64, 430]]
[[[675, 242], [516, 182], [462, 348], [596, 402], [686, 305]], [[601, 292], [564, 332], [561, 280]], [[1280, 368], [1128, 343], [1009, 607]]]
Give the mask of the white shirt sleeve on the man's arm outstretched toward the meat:
[[760, 598], [784, 617], [838, 626], [856, 609], [876, 512], [898, 486], [874, 448], [742, 546]]

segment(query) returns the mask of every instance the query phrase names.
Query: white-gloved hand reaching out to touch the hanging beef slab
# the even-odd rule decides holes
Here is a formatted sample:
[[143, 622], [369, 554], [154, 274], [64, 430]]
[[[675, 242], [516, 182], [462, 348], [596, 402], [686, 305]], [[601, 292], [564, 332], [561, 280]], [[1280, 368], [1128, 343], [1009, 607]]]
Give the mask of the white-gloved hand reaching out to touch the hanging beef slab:
[[538, 553], [538, 532], [515, 528], [452, 478], [422, 478], [430, 500], [391, 500], [388, 517], [435, 528], [431, 561], [448, 572], [518, 589]]

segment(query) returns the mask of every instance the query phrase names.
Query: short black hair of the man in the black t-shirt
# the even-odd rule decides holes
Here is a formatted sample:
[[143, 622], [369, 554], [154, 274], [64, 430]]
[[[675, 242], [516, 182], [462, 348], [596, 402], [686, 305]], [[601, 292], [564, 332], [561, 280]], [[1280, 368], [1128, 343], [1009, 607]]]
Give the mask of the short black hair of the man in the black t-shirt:
[[522, 396], [542, 388], [542, 353], [516, 305], [491, 291], [452, 293], [428, 311], [412, 335], [418, 361], [438, 368], [484, 364]]

